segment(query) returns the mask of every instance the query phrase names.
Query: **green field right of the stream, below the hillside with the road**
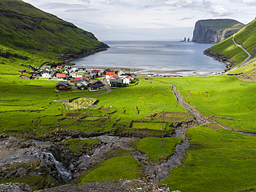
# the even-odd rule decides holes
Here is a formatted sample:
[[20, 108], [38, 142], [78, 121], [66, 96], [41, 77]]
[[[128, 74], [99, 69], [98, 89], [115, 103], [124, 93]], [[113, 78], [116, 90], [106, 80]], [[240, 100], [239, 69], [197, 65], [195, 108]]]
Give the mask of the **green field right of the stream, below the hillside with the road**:
[[232, 128], [256, 132], [255, 82], [226, 76], [158, 80], [175, 84], [185, 101], [203, 114], [231, 117], [235, 119], [228, 123]]

